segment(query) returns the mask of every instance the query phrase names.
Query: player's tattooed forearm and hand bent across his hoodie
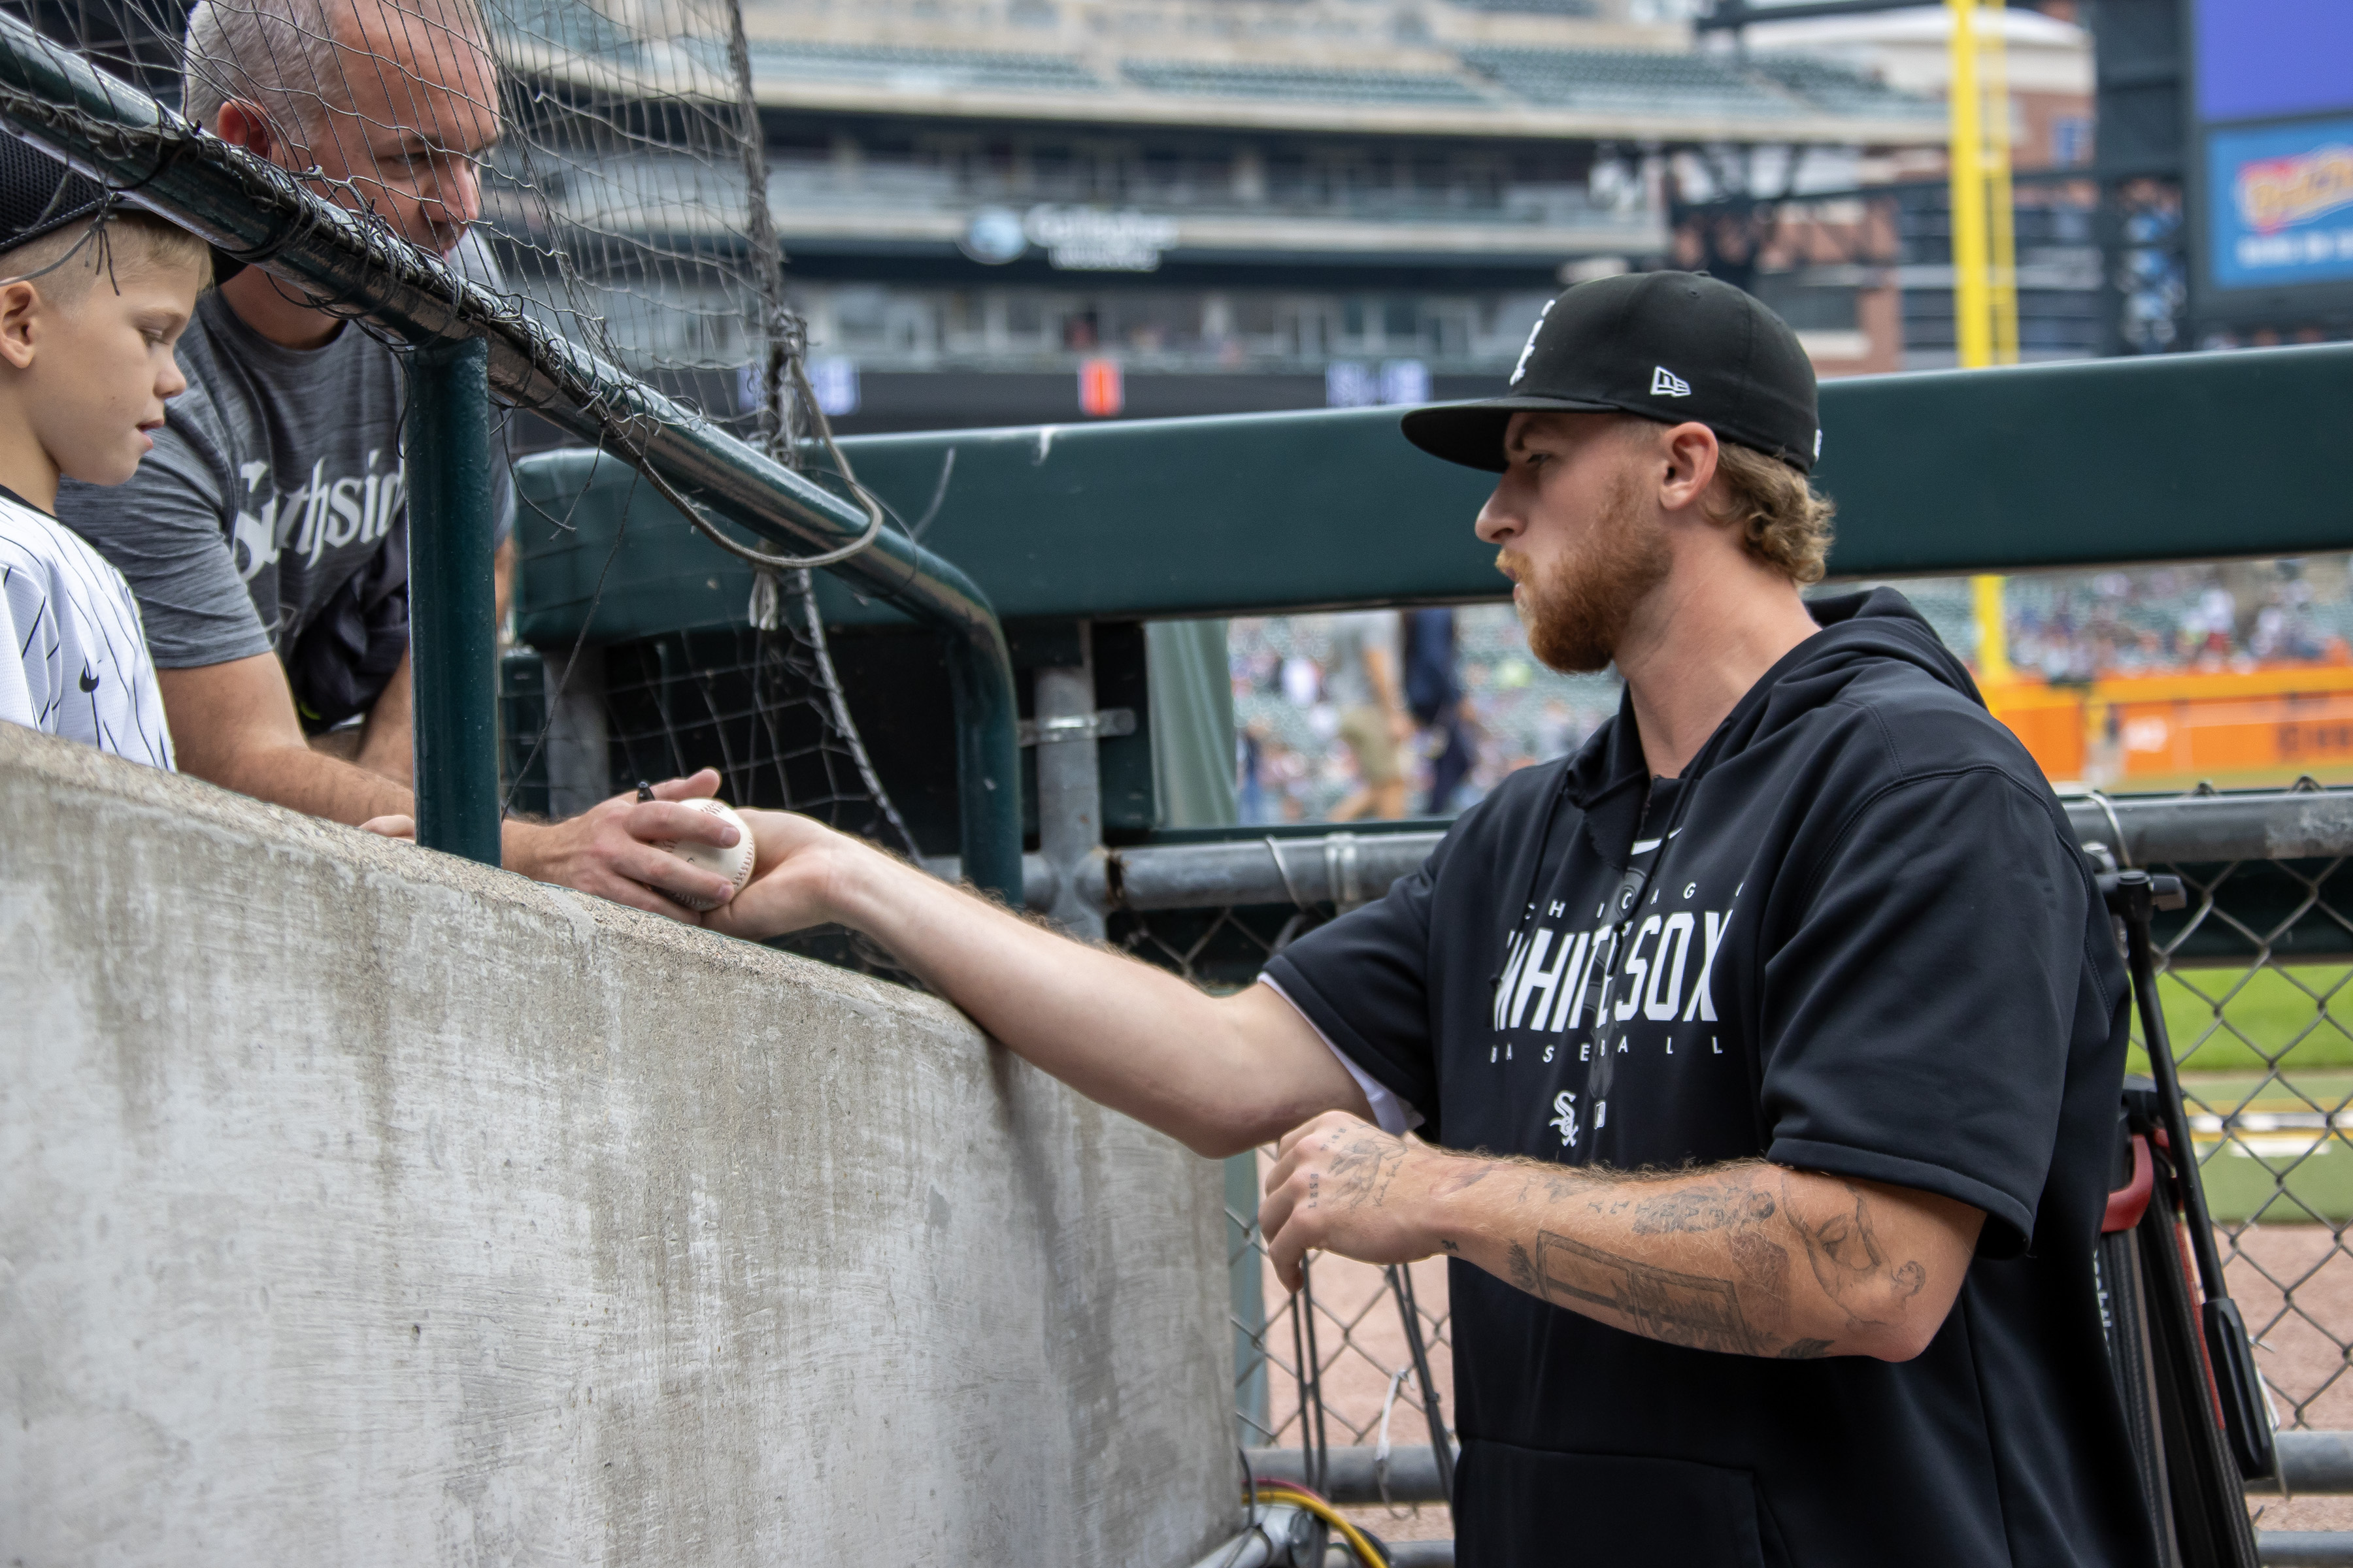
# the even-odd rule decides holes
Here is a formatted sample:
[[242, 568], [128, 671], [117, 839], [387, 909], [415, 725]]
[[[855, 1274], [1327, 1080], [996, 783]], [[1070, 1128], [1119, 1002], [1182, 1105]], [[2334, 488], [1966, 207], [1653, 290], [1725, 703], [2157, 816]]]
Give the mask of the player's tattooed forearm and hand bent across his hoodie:
[[1555, 1307], [1741, 1356], [1908, 1361], [1937, 1335], [1984, 1213], [1762, 1159], [1666, 1175], [1478, 1159], [1318, 1117], [1282, 1140], [1259, 1225], [1275, 1269], [1464, 1258]]

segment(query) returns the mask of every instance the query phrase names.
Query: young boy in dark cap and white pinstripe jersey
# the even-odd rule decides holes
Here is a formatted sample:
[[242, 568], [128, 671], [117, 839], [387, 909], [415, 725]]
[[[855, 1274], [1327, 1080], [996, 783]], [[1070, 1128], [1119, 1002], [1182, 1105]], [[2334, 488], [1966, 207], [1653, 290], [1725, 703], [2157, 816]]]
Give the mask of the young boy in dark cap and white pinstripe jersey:
[[129, 583], [56, 520], [122, 484], [188, 381], [172, 360], [212, 254], [21, 141], [0, 141], [0, 719], [172, 766]]

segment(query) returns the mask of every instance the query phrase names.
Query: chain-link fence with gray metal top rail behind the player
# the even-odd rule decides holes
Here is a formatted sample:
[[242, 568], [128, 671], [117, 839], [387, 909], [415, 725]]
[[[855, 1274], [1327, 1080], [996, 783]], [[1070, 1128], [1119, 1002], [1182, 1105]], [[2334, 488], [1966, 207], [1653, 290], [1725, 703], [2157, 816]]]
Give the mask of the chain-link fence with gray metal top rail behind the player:
[[[2280, 1427], [2353, 1432], [2353, 792], [2306, 780], [2264, 795], [2085, 795], [2068, 816], [2097, 860], [2184, 879], [2188, 907], [2158, 917], [2160, 992], [2217, 1244]], [[1111, 940], [1198, 985], [1247, 985], [1285, 943], [1381, 896], [1435, 842], [1431, 825], [1405, 825], [1115, 851]], [[2139, 1030], [2134, 1070], [2146, 1072]], [[1445, 1269], [1433, 1260], [1402, 1281], [1426, 1387], [1393, 1272], [1318, 1258], [1306, 1291], [1278, 1286], [1254, 1225], [1266, 1157], [1242, 1157], [1226, 1182], [1235, 1420], [1252, 1467], [1322, 1474], [1393, 1540], [1452, 1535], [1428, 1448], [1431, 1394], [1440, 1420], [1452, 1408]], [[2306, 1453], [2318, 1450], [2285, 1446], [2292, 1490], [2346, 1490], [2344, 1476], [2299, 1465]], [[2278, 1495], [2257, 1505], [2266, 1523], [2353, 1528], [2353, 1502], [2337, 1497], [2301, 1512]], [[2289, 1540], [2268, 1533], [2266, 1554]], [[2353, 1535], [2344, 1547], [2294, 1561], [2353, 1561]]]

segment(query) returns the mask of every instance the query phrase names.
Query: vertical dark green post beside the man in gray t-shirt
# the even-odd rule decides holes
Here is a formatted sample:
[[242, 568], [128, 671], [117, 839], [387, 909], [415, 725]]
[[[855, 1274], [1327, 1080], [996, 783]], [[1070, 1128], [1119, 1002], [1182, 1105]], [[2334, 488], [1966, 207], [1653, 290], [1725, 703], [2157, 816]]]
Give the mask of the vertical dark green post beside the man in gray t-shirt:
[[409, 355], [409, 677], [416, 693], [416, 842], [499, 863], [496, 548], [489, 346]]

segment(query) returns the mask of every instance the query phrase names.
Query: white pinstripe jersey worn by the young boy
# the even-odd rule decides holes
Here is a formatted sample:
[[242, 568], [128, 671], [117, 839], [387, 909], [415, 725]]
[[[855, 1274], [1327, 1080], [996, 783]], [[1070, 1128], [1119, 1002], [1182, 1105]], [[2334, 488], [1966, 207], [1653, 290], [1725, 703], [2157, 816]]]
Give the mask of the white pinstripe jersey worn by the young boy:
[[56, 517], [0, 489], [0, 719], [172, 766], [129, 583]]

